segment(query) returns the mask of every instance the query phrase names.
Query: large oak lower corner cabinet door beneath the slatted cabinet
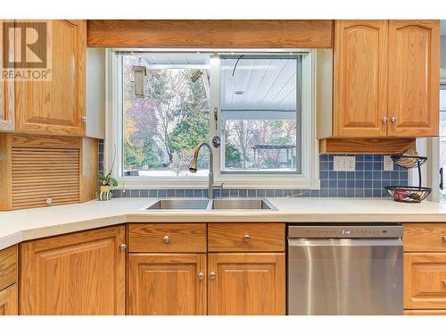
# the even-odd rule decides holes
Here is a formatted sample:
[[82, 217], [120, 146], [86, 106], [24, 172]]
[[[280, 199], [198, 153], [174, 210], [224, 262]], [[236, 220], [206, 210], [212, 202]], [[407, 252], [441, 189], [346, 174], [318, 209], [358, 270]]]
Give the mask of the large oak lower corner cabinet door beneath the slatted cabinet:
[[125, 314], [125, 226], [21, 245], [21, 314]]

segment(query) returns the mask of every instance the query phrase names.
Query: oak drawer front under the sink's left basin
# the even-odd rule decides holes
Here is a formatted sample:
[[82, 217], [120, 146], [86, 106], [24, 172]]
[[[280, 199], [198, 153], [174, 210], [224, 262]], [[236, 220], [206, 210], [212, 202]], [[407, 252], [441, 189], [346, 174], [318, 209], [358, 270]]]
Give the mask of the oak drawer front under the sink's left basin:
[[130, 223], [129, 252], [206, 252], [206, 223]]

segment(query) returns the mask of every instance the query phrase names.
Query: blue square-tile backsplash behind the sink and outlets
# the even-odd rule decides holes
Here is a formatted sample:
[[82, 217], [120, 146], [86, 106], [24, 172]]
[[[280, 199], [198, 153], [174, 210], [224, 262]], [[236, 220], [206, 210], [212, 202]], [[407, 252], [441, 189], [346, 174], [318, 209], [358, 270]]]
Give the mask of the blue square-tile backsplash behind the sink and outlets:
[[[216, 189], [215, 197], [387, 197], [384, 186], [408, 185], [408, 171], [393, 164], [384, 171], [383, 155], [354, 155], [354, 172], [336, 172], [335, 155], [319, 156], [320, 189]], [[339, 155], [337, 155], [339, 156]], [[103, 140], [98, 171], [103, 172]], [[114, 197], [207, 197], [207, 189], [113, 189]]]

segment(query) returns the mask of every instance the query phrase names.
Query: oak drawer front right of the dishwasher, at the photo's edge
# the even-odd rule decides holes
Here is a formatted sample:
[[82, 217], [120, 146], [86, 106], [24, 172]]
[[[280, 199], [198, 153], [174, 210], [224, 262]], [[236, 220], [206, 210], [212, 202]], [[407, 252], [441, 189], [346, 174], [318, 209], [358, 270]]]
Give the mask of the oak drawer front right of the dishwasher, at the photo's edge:
[[404, 251], [446, 252], [446, 223], [405, 223]]

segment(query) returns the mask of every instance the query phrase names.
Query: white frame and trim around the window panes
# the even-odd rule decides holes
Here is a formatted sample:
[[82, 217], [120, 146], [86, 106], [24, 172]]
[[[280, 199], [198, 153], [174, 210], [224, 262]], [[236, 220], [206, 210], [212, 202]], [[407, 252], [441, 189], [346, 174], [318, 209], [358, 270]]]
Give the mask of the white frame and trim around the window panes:
[[[153, 49], [148, 52], [169, 51], [178, 52], [171, 49]], [[218, 50], [213, 50], [218, 52]], [[293, 49], [293, 50], [255, 50], [260, 53], [277, 53], [277, 52], [307, 52], [310, 56], [305, 57], [303, 69], [304, 76], [311, 77], [311, 85], [303, 86], [305, 89], [302, 98], [302, 145], [301, 157], [302, 166], [301, 174], [293, 173], [253, 173], [244, 172], [240, 174], [230, 173], [222, 174], [219, 169], [220, 150], [214, 150], [214, 180], [215, 182], [223, 182], [224, 188], [301, 188], [301, 189], [319, 189], [319, 155], [318, 155], [318, 139], [316, 137], [316, 101], [317, 101], [317, 82], [316, 82], [316, 50]], [[183, 50], [184, 52], [184, 50]], [[207, 50], [203, 52], [208, 52]], [[237, 50], [237, 52], [253, 52], [253, 50]], [[115, 54], [113, 49], [106, 50], [105, 74], [106, 82], [106, 106], [105, 106], [105, 141], [104, 141], [104, 171], [108, 172], [111, 168], [113, 160], [113, 152], [116, 148], [117, 157], [113, 167], [113, 176], [119, 181], [118, 188], [207, 188], [207, 176], [179, 176], [179, 177], [120, 177], [117, 172], [121, 171], [121, 154], [122, 140], [117, 134], [122, 132], [121, 117], [121, 78], [120, 78], [120, 56]], [[212, 71], [212, 67], [218, 66], [216, 63], [218, 58], [211, 56], [211, 91], [219, 90], [219, 71]], [[308, 63], [305, 63], [308, 62]], [[217, 74], [216, 74], [217, 73]], [[308, 78], [308, 77], [307, 77]], [[211, 94], [210, 111], [211, 115], [214, 108], [219, 108], [219, 91]], [[304, 110], [310, 113], [305, 113]], [[215, 125], [215, 120], [210, 117], [211, 138], [219, 134], [219, 123]]]

